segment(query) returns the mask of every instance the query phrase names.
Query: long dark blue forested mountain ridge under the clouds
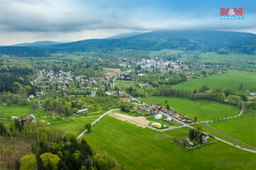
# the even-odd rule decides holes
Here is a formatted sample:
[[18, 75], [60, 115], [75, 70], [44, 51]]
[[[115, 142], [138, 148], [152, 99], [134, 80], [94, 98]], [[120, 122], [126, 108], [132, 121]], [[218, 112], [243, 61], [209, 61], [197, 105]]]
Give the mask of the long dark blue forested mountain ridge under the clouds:
[[[101, 51], [115, 49], [162, 50], [175, 49], [183, 51], [217, 51], [226, 53], [255, 54], [254, 33], [237, 33], [227, 31], [205, 30], [162, 30], [140, 33], [134, 36], [107, 39], [91, 39], [68, 43], [39, 41], [19, 44], [19, 47], [0, 47], [0, 54], [20, 56], [49, 56], [56, 51]], [[23, 46], [23, 47], [21, 47]]]

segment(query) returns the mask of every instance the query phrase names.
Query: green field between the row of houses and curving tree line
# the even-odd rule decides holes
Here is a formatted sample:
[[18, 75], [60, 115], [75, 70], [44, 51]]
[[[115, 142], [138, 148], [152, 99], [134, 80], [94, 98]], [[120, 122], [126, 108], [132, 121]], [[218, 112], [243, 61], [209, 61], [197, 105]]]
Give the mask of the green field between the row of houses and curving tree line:
[[198, 117], [199, 121], [212, 120], [217, 117], [225, 117], [226, 115], [237, 115], [239, 110], [235, 106], [222, 104], [214, 100], [186, 100], [174, 97], [150, 97], [153, 100], [145, 100], [148, 104], [155, 103], [154, 100], [165, 104], [168, 100], [169, 107], [176, 109], [178, 112], [193, 118]]

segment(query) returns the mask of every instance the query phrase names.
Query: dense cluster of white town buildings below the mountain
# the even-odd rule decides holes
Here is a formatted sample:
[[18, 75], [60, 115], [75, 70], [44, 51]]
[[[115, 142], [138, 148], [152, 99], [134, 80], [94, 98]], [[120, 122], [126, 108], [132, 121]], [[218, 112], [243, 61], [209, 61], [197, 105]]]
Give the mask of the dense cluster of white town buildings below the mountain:
[[192, 70], [211, 70], [212, 73], [222, 73], [222, 70], [226, 69], [226, 65], [209, 65], [205, 63], [192, 64], [186, 61], [185, 57], [172, 56], [171, 59], [165, 59], [162, 57], [152, 58], [119, 58], [119, 66], [124, 68], [124, 73], [121, 75], [121, 79], [131, 80], [132, 75], [144, 76], [147, 73], [154, 73], [160, 71], [161, 73], [180, 74], [184, 73], [187, 78], [198, 78], [209, 76], [208, 72], [203, 71], [200, 74], [195, 73]]

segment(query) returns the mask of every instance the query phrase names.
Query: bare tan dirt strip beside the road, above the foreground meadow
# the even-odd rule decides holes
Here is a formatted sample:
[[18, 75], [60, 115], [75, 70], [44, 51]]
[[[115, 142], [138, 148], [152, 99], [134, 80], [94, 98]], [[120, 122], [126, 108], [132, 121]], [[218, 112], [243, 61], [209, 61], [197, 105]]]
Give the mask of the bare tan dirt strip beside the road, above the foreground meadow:
[[117, 119], [122, 120], [122, 121], [131, 122], [131, 123], [136, 124], [143, 128], [147, 128], [148, 124], [150, 123], [150, 121], [148, 121], [143, 116], [134, 117], [134, 116], [118, 114], [118, 113], [110, 113], [109, 115], [116, 117]]

